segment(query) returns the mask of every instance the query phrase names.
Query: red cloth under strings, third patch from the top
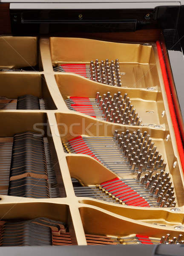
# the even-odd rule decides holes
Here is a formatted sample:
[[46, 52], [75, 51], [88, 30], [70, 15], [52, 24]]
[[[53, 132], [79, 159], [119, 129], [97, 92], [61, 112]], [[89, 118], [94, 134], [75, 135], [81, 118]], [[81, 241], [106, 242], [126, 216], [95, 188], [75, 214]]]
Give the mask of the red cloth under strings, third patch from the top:
[[78, 136], [73, 138], [72, 140], [69, 140], [69, 145], [72, 147], [76, 154], [87, 154], [98, 160], [93, 152], [90, 150], [90, 148], [86, 145], [82, 136]]

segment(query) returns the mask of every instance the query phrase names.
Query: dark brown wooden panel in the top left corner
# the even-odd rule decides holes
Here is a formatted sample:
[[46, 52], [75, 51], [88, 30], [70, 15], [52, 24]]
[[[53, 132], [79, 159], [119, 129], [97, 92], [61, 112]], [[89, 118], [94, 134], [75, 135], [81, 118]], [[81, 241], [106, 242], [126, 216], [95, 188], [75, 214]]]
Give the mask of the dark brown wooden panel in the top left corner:
[[0, 35], [11, 35], [9, 3], [0, 3]]

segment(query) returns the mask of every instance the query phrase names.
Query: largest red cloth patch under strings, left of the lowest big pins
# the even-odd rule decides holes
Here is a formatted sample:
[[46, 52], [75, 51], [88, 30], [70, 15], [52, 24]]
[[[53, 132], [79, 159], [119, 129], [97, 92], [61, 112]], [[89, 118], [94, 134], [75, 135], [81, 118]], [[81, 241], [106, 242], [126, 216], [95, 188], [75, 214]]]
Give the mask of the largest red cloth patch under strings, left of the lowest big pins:
[[[106, 186], [103, 186], [103, 188], [106, 189], [108, 192], [110, 192], [112, 195], [116, 194], [115, 197], [119, 198], [122, 201], [130, 199], [128, 202], [125, 202], [125, 204], [131, 205], [131, 206], [134, 206], [136, 204], [136, 206], [141, 206], [141, 204], [145, 203], [144, 207], [150, 207], [150, 205], [147, 203], [147, 201], [141, 195], [139, 195], [138, 192], [136, 192], [130, 186], [126, 185], [118, 177], [115, 179], [112, 179], [112, 180], [105, 181], [105, 182], [101, 183], [101, 185], [105, 185], [106, 183], [113, 182], [113, 181], [114, 181], [114, 183], [112, 183], [110, 185], [109, 184], [106, 185], [106, 186], [109, 186], [108, 189], [106, 189]], [[116, 184], [117, 182], [118, 182], [118, 184]], [[120, 186], [121, 183], [122, 183], [122, 187]], [[119, 190], [113, 192], [114, 190], [116, 190], [116, 186], [118, 186], [117, 189], [119, 189]], [[129, 198], [126, 198], [128, 196], [127, 193], [129, 193], [128, 195], [132, 195], [132, 196]], [[124, 195], [124, 194], [126, 194], [126, 195]], [[135, 199], [138, 196], [140, 196], [140, 198]]]

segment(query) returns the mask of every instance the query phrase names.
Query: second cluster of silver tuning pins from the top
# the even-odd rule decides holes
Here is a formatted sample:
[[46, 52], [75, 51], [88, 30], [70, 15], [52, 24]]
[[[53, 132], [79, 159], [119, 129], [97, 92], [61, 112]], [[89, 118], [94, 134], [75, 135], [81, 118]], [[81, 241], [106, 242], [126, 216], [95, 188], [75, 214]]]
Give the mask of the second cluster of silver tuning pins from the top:
[[118, 92], [111, 95], [110, 92], [107, 92], [101, 96], [97, 92], [95, 99], [106, 121], [123, 125], [141, 125], [138, 113], [131, 104], [127, 93], [121, 95], [121, 92]]

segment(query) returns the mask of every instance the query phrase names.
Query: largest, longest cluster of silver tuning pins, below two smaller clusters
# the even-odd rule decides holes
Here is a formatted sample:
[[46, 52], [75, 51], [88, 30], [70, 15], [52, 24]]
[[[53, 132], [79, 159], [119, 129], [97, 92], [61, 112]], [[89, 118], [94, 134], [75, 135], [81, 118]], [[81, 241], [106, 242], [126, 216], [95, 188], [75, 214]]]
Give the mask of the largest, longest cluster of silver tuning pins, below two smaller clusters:
[[[150, 135], [146, 131], [142, 134], [140, 130], [132, 134], [129, 134], [129, 130], [118, 134], [116, 130], [114, 139], [129, 162], [131, 172], [138, 171], [136, 180], [140, 181], [140, 186], [145, 186], [145, 190], [157, 198], [160, 207], [175, 207], [174, 187], [169, 173], [164, 174], [166, 163]], [[153, 172], [158, 170], [160, 173], [153, 175]], [[143, 171], [148, 173], [141, 177]]]

